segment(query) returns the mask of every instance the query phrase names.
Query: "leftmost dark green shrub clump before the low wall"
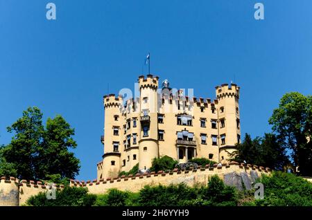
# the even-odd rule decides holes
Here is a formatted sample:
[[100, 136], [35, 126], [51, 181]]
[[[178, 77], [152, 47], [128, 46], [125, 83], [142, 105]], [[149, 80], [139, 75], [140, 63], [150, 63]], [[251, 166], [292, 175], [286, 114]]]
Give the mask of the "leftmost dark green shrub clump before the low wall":
[[64, 187], [63, 190], [56, 191], [56, 199], [46, 199], [46, 194], [40, 192], [31, 196], [27, 205], [33, 206], [91, 206], [96, 201], [96, 195], [87, 194], [87, 188]]

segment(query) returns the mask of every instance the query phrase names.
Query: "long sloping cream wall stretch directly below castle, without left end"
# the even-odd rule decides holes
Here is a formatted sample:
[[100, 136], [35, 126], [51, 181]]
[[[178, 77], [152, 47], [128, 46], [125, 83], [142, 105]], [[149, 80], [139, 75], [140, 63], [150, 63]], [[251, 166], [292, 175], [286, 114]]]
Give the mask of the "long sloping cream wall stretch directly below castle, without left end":
[[[226, 174], [243, 175], [247, 174], [252, 179], [251, 174], [254, 172], [257, 176], [262, 174], [270, 174], [270, 169], [264, 167], [257, 167], [252, 165], [239, 165], [232, 162], [224, 164], [222, 167], [198, 167], [198, 169], [191, 169], [185, 171], [178, 171], [174, 169], [171, 172], [151, 172], [150, 174], [137, 174], [135, 176], [122, 176], [121, 178], [107, 178], [106, 180], [94, 180], [87, 183], [71, 180], [71, 186], [74, 187], [87, 187], [89, 193], [103, 194], [111, 188], [118, 190], [129, 190], [131, 192], [138, 192], [145, 185], [170, 185], [177, 183], [186, 183], [189, 186], [197, 184], [206, 185], [209, 177], [217, 174], [220, 178], [224, 179]], [[234, 175], [234, 176], [235, 176]], [[227, 181], [227, 185], [234, 185], [234, 183]], [[236, 185], [235, 185], [236, 186]]]

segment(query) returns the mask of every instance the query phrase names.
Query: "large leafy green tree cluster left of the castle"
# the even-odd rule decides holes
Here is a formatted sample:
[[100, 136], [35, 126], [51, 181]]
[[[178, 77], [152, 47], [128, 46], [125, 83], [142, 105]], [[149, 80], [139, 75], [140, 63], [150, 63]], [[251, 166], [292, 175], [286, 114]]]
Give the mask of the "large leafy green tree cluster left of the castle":
[[48, 118], [45, 129], [40, 109], [30, 107], [8, 131], [15, 135], [1, 148], [0, 169], [10, 165], [18, 178], [59, 182], [78, 174], [79, 160], [69, 152], [77, 146], [74, 130], [62, 116]]

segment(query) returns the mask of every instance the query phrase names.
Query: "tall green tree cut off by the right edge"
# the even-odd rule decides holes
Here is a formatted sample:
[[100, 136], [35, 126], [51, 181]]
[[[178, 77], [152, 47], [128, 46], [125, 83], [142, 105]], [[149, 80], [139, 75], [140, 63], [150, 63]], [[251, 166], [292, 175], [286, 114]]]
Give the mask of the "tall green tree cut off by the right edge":
[[312, 175], [312, 96], [286, 93], [269, 119], [272, 130], [284, 147], [292, 152], [300, 174]]

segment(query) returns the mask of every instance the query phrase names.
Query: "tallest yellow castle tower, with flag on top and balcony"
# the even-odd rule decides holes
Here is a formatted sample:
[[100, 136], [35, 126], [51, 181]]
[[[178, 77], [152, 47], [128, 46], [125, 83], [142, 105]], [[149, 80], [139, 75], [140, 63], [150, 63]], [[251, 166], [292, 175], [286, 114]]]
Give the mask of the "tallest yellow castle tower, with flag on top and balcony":
[[139, 169], [148, 169], [153, 158], [159, 157], [157, 130], [157, 88], [159, 77], [139, 76], [140, 90], [140, 138], [139, 138]]

